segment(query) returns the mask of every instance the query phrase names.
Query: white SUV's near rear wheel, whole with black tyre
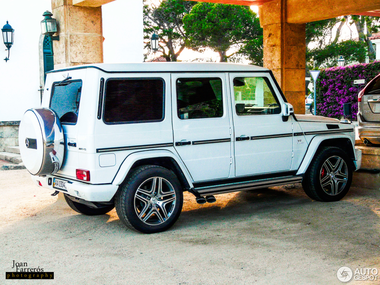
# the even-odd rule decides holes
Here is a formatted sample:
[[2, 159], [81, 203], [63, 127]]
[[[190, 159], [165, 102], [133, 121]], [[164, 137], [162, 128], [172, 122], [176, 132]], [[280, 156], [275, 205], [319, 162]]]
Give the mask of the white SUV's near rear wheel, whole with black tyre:
[[117, 215], [135, 231], [165, 231], [180, 215], [182, 191], [179, 180], [169, 169], [141, 166], [119, 187], [115, 201]]

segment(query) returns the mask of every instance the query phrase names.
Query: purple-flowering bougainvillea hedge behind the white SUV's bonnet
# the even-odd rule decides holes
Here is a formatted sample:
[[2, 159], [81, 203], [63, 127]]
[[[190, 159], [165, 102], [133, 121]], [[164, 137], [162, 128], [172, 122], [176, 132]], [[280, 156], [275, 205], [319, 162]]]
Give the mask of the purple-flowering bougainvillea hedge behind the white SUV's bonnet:
[[353, 119], [358, 112], [356, 79], [368, 83], [380, 73], [380, 61], [322, 69], [317, 79], [317, 115], [340, 119], [344, 103], [352, 103]]

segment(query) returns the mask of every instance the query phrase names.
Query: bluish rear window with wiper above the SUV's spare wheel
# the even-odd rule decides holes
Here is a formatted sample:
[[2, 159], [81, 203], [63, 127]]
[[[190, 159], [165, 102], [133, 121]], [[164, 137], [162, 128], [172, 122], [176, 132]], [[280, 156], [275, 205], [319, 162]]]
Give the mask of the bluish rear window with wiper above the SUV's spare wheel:
[[81, 101], [82, 81], [65, 81], [52, 86], [50, 108], [59, 116], [63, 124], [76, 124], [79, 102]]

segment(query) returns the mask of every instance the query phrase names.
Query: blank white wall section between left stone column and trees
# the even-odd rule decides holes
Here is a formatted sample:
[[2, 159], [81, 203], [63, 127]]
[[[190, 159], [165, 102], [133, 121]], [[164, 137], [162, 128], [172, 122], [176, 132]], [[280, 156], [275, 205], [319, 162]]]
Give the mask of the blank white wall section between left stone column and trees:
[[143, 62], [142, 0], [116, 0], [101, 8], [104, 62]]

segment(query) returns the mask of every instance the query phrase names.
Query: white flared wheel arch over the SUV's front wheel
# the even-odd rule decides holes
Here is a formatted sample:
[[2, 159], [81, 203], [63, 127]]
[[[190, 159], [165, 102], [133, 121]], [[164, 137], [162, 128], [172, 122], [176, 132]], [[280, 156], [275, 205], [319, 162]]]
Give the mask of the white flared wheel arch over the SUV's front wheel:
[[[307, 148], [304, 159], [301, 162], [301, 165], [298, 168], [297, 174], [304, 174], [309, 168], [310, 162], [313, 160], [318, 151], [326, 146], [339, 147], [344, 150], [348, 157], [352, 160], [355, 160], [355, 152], [353, 147], [352, 138], [345, 134], [337, 135], [318, 135], [312, 138], [312, 141]], [[353, 168], [355, 169], [355, 165], [352, 162]]]

